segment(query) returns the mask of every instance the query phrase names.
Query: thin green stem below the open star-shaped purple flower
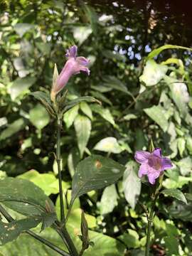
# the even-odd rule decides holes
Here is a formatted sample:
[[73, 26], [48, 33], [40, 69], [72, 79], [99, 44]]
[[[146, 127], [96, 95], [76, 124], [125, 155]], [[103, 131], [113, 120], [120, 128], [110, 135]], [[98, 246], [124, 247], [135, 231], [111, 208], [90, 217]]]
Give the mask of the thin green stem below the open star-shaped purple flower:
[[147, 233], [146, 233], [146, 251], [145, 251], [145, 256], [149, 256], [149, 250], [150, 250], [150, 238], [151, 238], [151, 227], [153, 223], [153, 218], [154, 218], [154, 208], [155, 208], [155, 203], [156, 203], [156, 198], [158, 197], [158, 193], [155, 193], [153, 202], [151, 205], [151, 210], [149, 213], [149, 218], [148, 220], [148, 225], [147, 225]]

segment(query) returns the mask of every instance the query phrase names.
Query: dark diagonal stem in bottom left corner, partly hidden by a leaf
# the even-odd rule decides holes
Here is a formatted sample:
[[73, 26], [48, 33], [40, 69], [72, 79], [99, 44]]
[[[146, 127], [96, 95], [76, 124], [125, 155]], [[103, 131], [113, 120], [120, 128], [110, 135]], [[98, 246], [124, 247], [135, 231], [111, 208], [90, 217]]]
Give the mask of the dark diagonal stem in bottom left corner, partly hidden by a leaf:
[[[14, 218], [12, 218], [11, 215], [9, 215], [9, 213], [7, 213], [7, 211], [1, 205], [0, 205], [0, 212], [1, 212], [2, 215], [4, 215], [6, 220], [8, 220], [9, 222], [14, 221]], [[39, 235], [36, 235], [36, 233], [33, 233], [31, 230], [27, 230], [25, 233], [27, 233], [28, 235], [31, 235], [33, 238], [35, 238], [36, 240], [42, 242], [44, 245], [47, 245], [52, 250], [55, 250], [55, 252], [58, 252], [60, 255], [70, 256], [68, 254], [68, 252], [65, 252], [64, 250], [61, 250], [59, 247], [53, 245], [51, 242], [49, 242], [45, 238], [41, 238]]]

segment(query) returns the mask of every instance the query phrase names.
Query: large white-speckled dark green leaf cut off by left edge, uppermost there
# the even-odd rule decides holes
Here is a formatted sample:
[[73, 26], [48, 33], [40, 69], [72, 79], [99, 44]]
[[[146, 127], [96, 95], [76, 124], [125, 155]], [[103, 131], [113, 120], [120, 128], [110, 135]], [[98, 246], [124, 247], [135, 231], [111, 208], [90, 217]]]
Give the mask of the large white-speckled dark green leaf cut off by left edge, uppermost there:
[[0, 201], [23, 215], [54, 213], [52, 201], [31, 181], [21, 178], [0, 180]]

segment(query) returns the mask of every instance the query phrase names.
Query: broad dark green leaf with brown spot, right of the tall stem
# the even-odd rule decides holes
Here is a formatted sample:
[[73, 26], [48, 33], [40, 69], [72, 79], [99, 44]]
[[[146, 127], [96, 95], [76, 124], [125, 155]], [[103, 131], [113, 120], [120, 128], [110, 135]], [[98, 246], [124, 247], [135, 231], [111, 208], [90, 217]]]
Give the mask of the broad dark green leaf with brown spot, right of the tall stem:
[[103, 156], [92, 155], [80, 161], [73, 176], [71, 201], [116, 182], [123, 171], [124, 166]]

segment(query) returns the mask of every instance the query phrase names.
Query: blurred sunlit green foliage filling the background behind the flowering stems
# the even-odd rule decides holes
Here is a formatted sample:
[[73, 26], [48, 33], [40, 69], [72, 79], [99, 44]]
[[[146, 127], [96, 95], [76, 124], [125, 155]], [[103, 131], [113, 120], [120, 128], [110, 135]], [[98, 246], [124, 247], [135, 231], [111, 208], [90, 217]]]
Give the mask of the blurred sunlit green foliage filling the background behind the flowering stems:
[[[85, 255], [143, 255], [146, 217], [137, 204], [141, 183], [133, 156], [135, 150], [147, 149], [150, 138], [174, 162], [174, 169], [166, 171], [164, 187], [181, 188], [188, 196], [187, 206], [160, 197], [153, 253], [192, 255], [191, 51], [167, 46], [155, 58], [146, 58], [167, 44], [191, 47], [187, 3], [0, 1], [1, 178], [27, 178], [57, 201], [55, 122], [28, 92], [50, 91], [54, 63], [61, 70], [65, 52], [74, 44], [78, 55], [90, 59], [91, 73], [70, 79], [68, 98], [90, 95], [102, 106], [80, 103], [63, 117], [65, 193], [70, 197], [75, 166], [85, 156], [102, 154], [128, 163], [116, 185], [92, 191], [75, 203], [74, 228], [79, 228], [83, 208], [93, 230], [95, 247]], [[145, 206], [148, 191], [142, 185], [139, 201]], [[43, 234], [54, 240], [50, 230]], [[1, 247], [1, 253], [55, 255], [24, 235]]]

